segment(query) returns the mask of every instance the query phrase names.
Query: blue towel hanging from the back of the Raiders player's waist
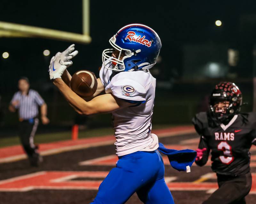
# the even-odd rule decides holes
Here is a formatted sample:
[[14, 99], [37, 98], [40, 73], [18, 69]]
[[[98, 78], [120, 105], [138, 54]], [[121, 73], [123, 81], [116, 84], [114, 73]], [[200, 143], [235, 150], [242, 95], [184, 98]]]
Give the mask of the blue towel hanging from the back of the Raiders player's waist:
[[158, 150], [167, 155], [172, 168], [178, 171], [186, 171], [187, 166], [191, 167], [196, 159], [196, 151], [192, 149], [167, 149], [159, 143]]

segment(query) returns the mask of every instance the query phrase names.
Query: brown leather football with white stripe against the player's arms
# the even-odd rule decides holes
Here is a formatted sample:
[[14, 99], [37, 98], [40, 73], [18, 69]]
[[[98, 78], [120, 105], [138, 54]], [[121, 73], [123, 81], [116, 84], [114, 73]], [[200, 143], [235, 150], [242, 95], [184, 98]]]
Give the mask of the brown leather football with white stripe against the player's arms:
[[81, 97], [92, 96], [97, 90], [97, 78], [88, 70], [77, 71], [71, 78], [70, 86], [72, 91]]

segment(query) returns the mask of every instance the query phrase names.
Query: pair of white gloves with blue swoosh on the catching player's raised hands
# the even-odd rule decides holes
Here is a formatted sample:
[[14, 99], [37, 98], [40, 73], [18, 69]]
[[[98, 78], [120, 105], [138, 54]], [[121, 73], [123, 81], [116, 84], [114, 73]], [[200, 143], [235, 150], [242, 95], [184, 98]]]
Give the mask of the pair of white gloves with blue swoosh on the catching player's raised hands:
[[72, 61], [70, 60], [78, 54], [77, 50], [74, 51], [74, 46], [75, 45], [72, 44], [64, 52], [58, 52], [54, 57], [52, 57], [49, 66], [50, 79], [61, 78], [65, 69], [72, 65]]

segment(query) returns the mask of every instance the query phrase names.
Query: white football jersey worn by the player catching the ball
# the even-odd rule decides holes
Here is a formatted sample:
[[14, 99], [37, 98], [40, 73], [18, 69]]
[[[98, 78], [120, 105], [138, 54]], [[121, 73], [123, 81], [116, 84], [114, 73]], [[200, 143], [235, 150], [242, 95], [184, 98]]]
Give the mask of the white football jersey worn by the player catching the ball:
[[158, 139], [151, 137], [156, 79], [147, 69], [113, 73], [102, 65], [100, 80], [106, 93], [134, 104], [112, 112], [117, 156], [156, 150]]

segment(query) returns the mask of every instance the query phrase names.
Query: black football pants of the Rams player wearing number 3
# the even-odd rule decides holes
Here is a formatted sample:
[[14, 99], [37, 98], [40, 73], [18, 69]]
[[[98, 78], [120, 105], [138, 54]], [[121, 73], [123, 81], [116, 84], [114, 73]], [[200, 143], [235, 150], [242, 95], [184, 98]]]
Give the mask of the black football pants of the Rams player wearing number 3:
[[237, 177], [217, 175], [219, 188], [203, 204], [245, 204], [245, 196], [252, 187], [252, 175]]

